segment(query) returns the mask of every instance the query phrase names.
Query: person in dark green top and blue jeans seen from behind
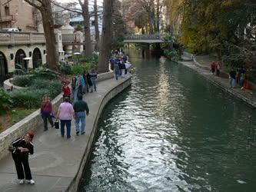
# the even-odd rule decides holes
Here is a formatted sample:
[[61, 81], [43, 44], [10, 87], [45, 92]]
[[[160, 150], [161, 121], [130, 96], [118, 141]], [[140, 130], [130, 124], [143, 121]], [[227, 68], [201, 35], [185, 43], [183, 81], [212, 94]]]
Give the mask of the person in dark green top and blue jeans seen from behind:
[[[85, 124], [86, 124], [85, 118], [86, 118], [86, 115], [88, 116], [89, 114], [88, 104], [82, 99], [83, 99], [83, 96], [81, 94], [78, 94], [78, 101], [76, 101], [73, 106], [75, 111], [76, 135], [79, 135], [79, 133], [85, 134]], [[86, 111], [86, 115], [85, 115], [85, 111]], [[81, 126], [79, 126], [80, 122], [81, 122]]]

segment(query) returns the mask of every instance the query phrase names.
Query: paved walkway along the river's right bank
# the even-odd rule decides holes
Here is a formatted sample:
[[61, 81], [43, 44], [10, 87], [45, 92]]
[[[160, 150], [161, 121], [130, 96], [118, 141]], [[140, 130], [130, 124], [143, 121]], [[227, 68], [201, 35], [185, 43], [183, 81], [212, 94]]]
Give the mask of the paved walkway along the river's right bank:
[[[199, 61], [201, 61], [201, 63], [208, 62], [203, 59]], [[201, 65], [199, 61], [197, 61], [197, 63], [195, 63], [194, 61], [179, 61], [179, 63], [198, 72], [198, 74], [201, 74], [202, 76], [204, 76], [204, 78], [208, 79], [208, 81], [211, 81], [213, 84], [216, 84], [219, 88], [222, 88], [224, 91], [227, 91], [228, 93], [234, 95], [236, 98], [239, 98], [242, 101], [246, 102], [252, 108], [256, 108], [256, 91], [255, 90], [244, 91], [244, 90], [241, 90], [241, 88], [230, 88], [228, 78], [217, 77], [215, 74], [211, 73], [210, 68], [205, 67], [206, 65], [205, 63], [204, 65]]]

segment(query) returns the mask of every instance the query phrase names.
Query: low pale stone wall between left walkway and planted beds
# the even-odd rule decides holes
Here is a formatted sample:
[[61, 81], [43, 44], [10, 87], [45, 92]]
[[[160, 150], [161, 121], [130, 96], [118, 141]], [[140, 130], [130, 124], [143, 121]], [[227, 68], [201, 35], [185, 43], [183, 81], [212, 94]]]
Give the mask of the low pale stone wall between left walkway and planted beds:
[[[105, 79], [113, 78], [113, 72], [107, 72], [104, 74], [98, 74], [98, 81], [103, 81]], [[11, 84], [12, 86], [12, 84]], [[53, 101], [53, 109], [56, 113], [58, 111], [59, 104], [62, 103], [62, 94], [59, 94]], [[22, 137], [26, 131], [32, 130], [36, 131], [38, 127], [43, 124], [40, 109], [28, 115], [26, 118], [22, 119], [18, 123], [9, 127], [7, 130], [0, 134], [0, 160], [8, 155], [8, 145], [12, 143], [17, 137]]]

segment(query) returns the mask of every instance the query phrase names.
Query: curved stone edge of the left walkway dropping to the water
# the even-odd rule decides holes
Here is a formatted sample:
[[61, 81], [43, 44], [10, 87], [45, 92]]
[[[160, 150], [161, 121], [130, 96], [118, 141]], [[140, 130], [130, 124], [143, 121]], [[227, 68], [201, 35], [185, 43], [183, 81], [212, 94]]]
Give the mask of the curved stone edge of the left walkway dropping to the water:
[[81, 174], [83, 174], [83, 171], [85, 169], [86, 161], [88, 160], [91, 146], [93, 144], [93, 141], [95, 139], [95, 134], [97, 132], [97, 124], [98, 124], [98, 118], [101, 116], [101, 112], [105, 108], [105, 105], [108, 104], [108, 101], [110, 101], [112, 98], [115, 98], [117, 94], [119, 94], [121, 91], [124, 91], [125, 88], [128, 88], [131, 85], [131, 77], [128, 78], [126, 81], [124, 81], [122, 84], [119, 84], [117, 87], [113, 88], [111, 91], [105, 94], [105, 98], [102, 99], [100, 108], [98, 109], [98, 114], [95, 117], [94, 125], [91, 131], [91, 135], [88, 140], [88, 145], [85, 148], [85, 152], [83, 154], [83, 158], [81, 160], [81, 164], [79, 166], [78, 172], [75, 175], [75, 178], [72, 180], [71, 184], [69, 185], [68, 189], [66, 191], [77, 191], [78, 185], [81, 180]]

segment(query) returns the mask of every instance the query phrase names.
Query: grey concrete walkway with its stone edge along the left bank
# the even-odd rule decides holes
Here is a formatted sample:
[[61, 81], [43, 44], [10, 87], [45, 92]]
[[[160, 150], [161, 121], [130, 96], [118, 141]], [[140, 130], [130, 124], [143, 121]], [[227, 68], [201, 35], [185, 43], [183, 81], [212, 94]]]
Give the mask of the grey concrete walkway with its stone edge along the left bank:
[[[35, 138], [35, 154], [29, 157], [35, 185], [19, 185], [11, 154], [0, 161], [0, 191], [76, 191], [85, 168], [95, 133], [98, 118], [112, 98], [131, 85], [131, 75], [100, 81], [97, 92], [88, 93], [90, 114], [86, 118], [85, 135], [75, 135], [74, 120], [71, 123], [71, 138], [61, 137], [60, 131], [38, 127]], [[15, 139], [15, 138], [14, 138]]]

